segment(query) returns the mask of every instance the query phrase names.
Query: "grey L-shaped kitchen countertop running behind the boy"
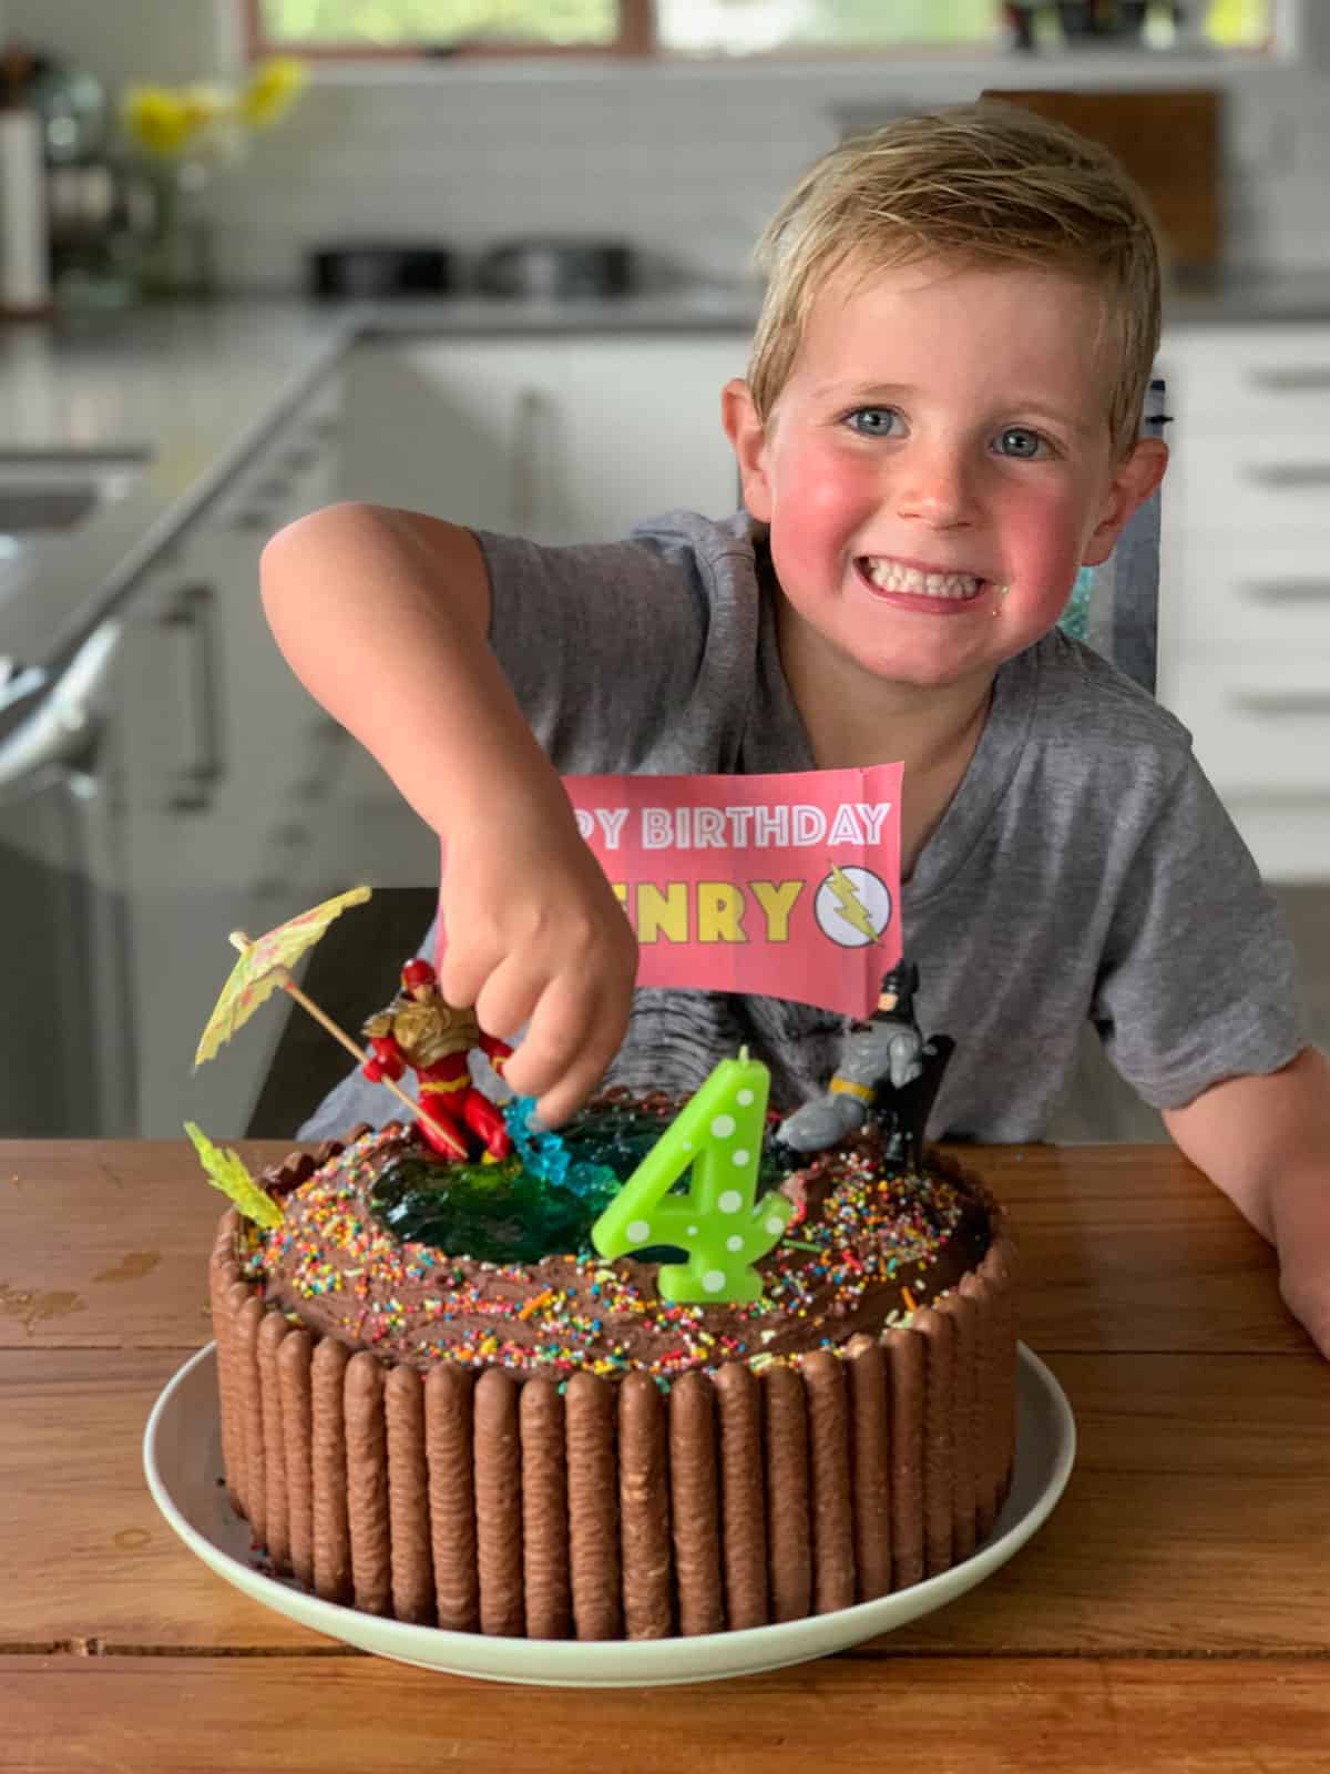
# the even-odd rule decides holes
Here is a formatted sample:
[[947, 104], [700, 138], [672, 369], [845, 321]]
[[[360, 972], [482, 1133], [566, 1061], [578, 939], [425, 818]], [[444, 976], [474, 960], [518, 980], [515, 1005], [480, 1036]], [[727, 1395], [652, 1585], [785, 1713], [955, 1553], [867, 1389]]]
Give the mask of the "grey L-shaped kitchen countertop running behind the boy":
[[[66, 655], [355, 339], [747, 334], [755, 312], [752, 287], [699, 286], [585, 302], [231, 300], [0, 328], [0, 458], [126, 454], [133, 470], [124, 497], [4, 568], [0, 656]], [[1326, 318], [1330, 271], [1192, 280], [1167, 305], [1186, 326]]]

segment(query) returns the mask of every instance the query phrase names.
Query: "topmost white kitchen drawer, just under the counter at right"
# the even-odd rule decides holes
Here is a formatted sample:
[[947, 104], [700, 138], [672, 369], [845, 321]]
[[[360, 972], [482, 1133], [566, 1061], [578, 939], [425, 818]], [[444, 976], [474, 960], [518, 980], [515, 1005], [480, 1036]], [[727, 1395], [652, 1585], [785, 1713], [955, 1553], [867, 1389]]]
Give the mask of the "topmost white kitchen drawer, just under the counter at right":
[[1218, 420], [1314, 433], [1330, 426], [1330, 326], [1220, 326], [1165, 335], [1158, 357], [1179, 428]]

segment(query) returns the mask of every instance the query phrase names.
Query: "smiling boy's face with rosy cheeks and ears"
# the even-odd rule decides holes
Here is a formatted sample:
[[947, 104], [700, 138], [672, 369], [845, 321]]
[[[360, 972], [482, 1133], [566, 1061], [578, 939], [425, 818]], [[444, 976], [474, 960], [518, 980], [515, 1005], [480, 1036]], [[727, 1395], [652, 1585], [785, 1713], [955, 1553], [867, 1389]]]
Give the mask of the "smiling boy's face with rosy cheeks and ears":
[[766, 426], [729, 385], [745, 502], [805, 658], [981, 683], [1053, 626], [1167, 461], [1156, 440], [1115, 458], [1101, 330], [1096, 293], [1062, 275], [842, 270]]

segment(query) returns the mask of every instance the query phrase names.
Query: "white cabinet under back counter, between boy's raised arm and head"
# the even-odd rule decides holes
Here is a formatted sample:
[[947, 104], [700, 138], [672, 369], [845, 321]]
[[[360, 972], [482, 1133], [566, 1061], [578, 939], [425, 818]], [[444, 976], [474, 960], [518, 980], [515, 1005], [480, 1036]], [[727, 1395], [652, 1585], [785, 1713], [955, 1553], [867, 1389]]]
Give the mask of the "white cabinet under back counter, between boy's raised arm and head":
[[372, 339], [348, 360], [346, 483], [470, 529], [612, 541], [738, 506], [720, 390], [748, 335]]

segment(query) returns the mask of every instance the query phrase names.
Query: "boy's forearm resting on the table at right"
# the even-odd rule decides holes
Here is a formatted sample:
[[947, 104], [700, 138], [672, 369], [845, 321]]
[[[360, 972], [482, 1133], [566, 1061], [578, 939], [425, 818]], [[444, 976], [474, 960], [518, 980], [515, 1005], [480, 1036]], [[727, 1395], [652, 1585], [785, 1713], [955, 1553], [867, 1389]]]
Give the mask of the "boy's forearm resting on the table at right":
[[1330, 1355], [1330, 1066], [1314, 1048], [1225, 1079], [1163, 1125], [1279, 1251], [1280, 1291]]

